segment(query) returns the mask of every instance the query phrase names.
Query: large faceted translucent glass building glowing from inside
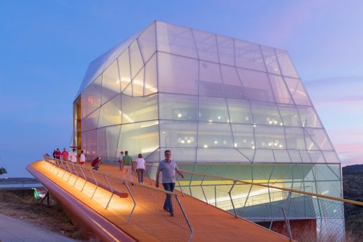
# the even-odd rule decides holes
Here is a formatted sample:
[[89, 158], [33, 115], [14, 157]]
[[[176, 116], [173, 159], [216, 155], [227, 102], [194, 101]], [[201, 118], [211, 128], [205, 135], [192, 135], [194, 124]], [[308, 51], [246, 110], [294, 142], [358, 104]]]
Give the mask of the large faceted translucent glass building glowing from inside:
[[285, 50], [156, 21], [89, 64], [73, 107], [89, 158], [159, 162], [170, 149], [181, 169], [342, 195], [341, 162]]

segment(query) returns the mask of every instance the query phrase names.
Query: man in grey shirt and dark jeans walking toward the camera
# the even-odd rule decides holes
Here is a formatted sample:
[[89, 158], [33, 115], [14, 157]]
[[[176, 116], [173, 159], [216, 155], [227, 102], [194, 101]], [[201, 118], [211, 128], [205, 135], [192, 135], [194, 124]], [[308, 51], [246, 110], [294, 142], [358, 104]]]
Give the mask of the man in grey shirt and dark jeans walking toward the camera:
[[[161, 183], [163, 183], [163, 187], [165, 190], [172, 192], [175, 188], [175, 172], [184, 178], [182, 172], [179, 171], [177, 163], [174, 160], [171, 160], [172, 152], [169, 150], [165, 151], [165, 160], [161, 160], [158, 165], [158, 171], [156, 172], [156, 188], [158, 188], [158, 180], [160, 172], [163, 172], [163, 179]], [[174, 216], [174, 210], [172, 209], [172, 196], [166, 195], [163, 209], [168, 211], [170, 215]]]

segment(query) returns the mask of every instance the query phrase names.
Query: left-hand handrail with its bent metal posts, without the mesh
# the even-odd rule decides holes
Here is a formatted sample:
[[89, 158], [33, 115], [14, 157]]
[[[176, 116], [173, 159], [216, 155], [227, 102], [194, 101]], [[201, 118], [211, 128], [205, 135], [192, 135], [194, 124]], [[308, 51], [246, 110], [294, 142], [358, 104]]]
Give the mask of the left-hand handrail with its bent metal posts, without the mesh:
[[[80, 170], [81, 170], [81, 172], [82, 172], [82, 174], [83, 174], [84, 177], [80, 176], [80, 174], [78, 174], [78, 172], [76, 172], [76, 174], [74, 174], [74, 175], [77, 176], [77, 179], [80, 177], [80, 178], [82, 178], [82, 179], [85, 180], [85, 183], [82, 186], [82, 190], [84, 189], [84, 186], [86, 185], [87, 182], [94, 183], [96, 185], [96, 189], [94, 190], [93, 194], [91, 195], [91, 199], [93, 199], [94, 194], [96, 193], [97, 188], [100, 186], [99, 183], [97, 182], [97, 179], [94, 176], [94, 173], [101, 174], [101, 176], [103, 176], [105, 178], [105, 181], [107, 182], [107, 185], [108, 185], [108, 188], [109, 189], [107, 188], [107, 186], [106, 187], [102, 187], [102, 188], [105, 189], [105, 190], [109, 190], [110, 192], [112, 192], [112, 195], [111, 195], [110, 199], [108, 200], [108, 203], [107, 203], [105, 209], [108, 209], [108, 206], [110, 204], [110, 201], [111, 201], [111, 199], [112, 199], [112, 197], [114, 195], [114, 192], [115, 192], [115, 190], [112, 189], [111, 183], [108, 181], [107, 177], [112, 178], [112, 179], [116, 179], [116, 180], [119, 180], [119, 181], [123, 182], [126, 185], [126, 189], [128, 190], [129, 194], [131, 195], [131, 199], [133, 200], [133, 203], [134, 203], [133, 209], [131, 210], [131, 213], [128, 215], [127, 222], [130, 222], [131, 216], [133, 215], [133, 211], [135, 210], [135, 206], [137, 205], [137, 202], [136, 202], [136, 200], [134, 198], [133, 192], [128, 187], [128, 183], [131, 183], [132, 185], [135, 185], [135, 186], [140, 186], [142, 188], [147, 188], [147, 189], [153, 190], [155, 192], [161, 192], [161, 193], [163, 193], [165, 195], [171, 195], [172, 197], [175, 197], [175, 199], [177, 200], [177, 204], [178, 204], [180, 210], [182, 211], [182, 215], [184, 217], [184, 220], [186, 221], [186, 225], [188, 225], [188, 228], [190, 230], [190, 235], [189, 235], [189, 240], [188, 241], [191, 241], [191, 239], [193, 238], [193, 234], [194, 234], [193, 228], [191, 227], [191, 223], [189, 222], [188, 217], [186, 216], [186, 213], [184, 211], [184, 208], [182, 206], [182, 203], [178, 199], [178, 194], [177, 193], [170, 192], [170, 191], [167, 191], [167, 190], [162, 190], [160, 188], [155, 188], [153, 186], [148, 186], [146, 184], [138, 183], [136, 181], [131, 181], [129, 179], [124, 179], [124, 178], [121, 178], [119, 176], [114, 176], [112, 174], [106, 174], [106, 173], [103, 173], [103, 172], [100, 172], [100, 171], [96, 171], [94, 169], [90, 169], [90, 168], [84, 167], [82, 165], [75, 164], [74, 162], [70, 162], [68, 160], [67, 161], [66, 160], [59, 160], [59, 159], [55, 159], [55, 158], [50, 158], [50, 156], [44, 156], [44, 158], [45, 158], [45, 162], [46, 163], [49, 163], [51, 165], [54, 165], [53, 172], [54, 172], [55, 169], [57, 169], [57, 168], [59, 169], [57, 175], [59, 174], [59, 172], [60, 172], [61, 169], [64, 170], [64, 174], [66, 172], [70, 172], [70, 176], [68, 177], [67, 181], [69, 181], [69, 179], [71, 178], [72, 174], [74, 174], [72, 172], [72, 169], [69, 167], [69, 165], [72, 165], [73, 166], [75, 172], [76, 172], [75, 167], [80, 168]], [[68, 167], [68, 169], [66, 169], [66, 166], [65, 165]], [[91, 173], [91, 176], [92, 176], [94, 182], [89, 181], [89, 179], [87, 179], [87, 176], [85, 176], [85, 174], [84, 174], [84, 170], [88, 170]], [[63, 174], [63, 176], [64, 176], [64, 174]], [[63, 176], [62, 176], [62, 179], [63, 179]], [[77, 179], [75, 179], [75, 182], [77, 182]], [[74, 185], [75, 185], [75, 183], [73, 184], [73, 186]], [[82, 192], [82, 190], [81, 190], [81, 192]]]

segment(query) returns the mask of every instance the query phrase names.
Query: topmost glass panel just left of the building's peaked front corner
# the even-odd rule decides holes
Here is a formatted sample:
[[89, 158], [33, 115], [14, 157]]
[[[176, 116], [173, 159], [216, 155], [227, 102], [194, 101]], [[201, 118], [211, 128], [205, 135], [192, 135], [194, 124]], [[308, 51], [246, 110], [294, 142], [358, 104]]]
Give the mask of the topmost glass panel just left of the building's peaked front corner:
[[139, 38], [138, 43], [142, 58], [145, 62], [156, 52], [156, 29], [155, 22], [153, 22], [145, 31], [143, 31]]

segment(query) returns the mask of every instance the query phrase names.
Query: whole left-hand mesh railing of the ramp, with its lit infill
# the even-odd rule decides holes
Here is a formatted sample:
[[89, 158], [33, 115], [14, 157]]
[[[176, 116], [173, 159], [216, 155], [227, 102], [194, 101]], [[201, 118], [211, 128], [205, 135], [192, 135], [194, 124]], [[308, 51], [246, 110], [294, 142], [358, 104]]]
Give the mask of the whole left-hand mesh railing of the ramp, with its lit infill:
[[[112, 209], [160, 241], [191, 241], [193, 228], [177, 193], [112, 176], [77, 163], [44, 156], [50, 172], [98, 202], [103, 209]], [[107, 192], [105, 192], [107, 191]], [[174, 205], [173, 217], [163, 210], [165, 197]]]

